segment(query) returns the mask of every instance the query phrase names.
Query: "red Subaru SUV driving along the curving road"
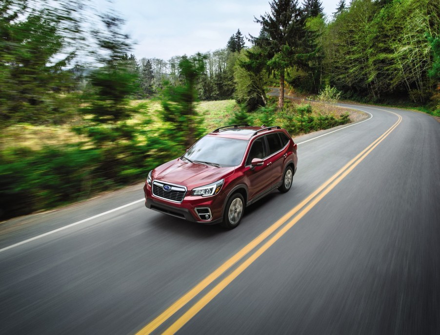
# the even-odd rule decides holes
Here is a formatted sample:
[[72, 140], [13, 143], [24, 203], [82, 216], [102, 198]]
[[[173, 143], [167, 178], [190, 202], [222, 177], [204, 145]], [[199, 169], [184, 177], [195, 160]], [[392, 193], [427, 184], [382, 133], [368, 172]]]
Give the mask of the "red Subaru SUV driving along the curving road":
[[297, 145], [279, 126], [220, 127], [183, 156], [150, 171], [145, 206], [233, 229], [246, 206], [274, 188], [290, 189], [297, 162]]

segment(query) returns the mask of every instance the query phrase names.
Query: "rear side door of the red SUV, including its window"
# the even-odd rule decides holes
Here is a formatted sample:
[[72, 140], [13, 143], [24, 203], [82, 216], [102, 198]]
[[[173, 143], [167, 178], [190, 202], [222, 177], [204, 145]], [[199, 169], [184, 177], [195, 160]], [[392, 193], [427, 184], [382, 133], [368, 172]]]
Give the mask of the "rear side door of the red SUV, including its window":
[[283, 150], [284, 145], [277, 132], [267, 134], [265, 138], [269, 151], [269, 157], [267, 158], [267, 165], [270, 169], [270, 174], [268, 174], [269, 186], [272, 186], [282, 178], [286, 150]]

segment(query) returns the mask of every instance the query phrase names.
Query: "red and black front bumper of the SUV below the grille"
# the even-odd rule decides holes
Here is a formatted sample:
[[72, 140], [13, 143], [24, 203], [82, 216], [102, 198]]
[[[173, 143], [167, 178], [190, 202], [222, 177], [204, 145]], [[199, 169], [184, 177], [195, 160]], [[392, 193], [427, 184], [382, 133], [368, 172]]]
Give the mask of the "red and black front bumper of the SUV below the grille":
[[[221, 191], [212, 197], [186, 195], [181, 203], [174, 203], [154, 196], [151, 192], [151, 186], [147, 183], [145, 183], [143, 190], [146, 208], [205, 225], [214, 225], [223, 220], [224, 195], [222, 195]], [[211, 218], [209, 220], [202, 220], [196, 211], [197, 209], [199, 211], [200, 209], [209, 209]]]

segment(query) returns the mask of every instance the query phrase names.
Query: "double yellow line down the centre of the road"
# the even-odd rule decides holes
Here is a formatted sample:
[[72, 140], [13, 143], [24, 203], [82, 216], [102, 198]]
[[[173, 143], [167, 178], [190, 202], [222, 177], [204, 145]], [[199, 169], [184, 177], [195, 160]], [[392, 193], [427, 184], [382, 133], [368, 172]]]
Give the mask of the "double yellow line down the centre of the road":
[[[378, 108], [377, 108], [378, 109]], [[280, 239], [288, 230], [290, 230], [310, 209], [312, 209], [328, 192], [336, 187], [347, 174], [349, 174], [380, 142], [382, 142], [401, 122], [399, 114], [390, 112], [398, 116], [396, 123], [385, 131], [376, 141], [362, 150], [355, 158], [348, 162], [344, 167], [340, 168], [330, 179], [317, 188], [312, 194], [300, 202], [293, 209], [284, 214], [278, 221], [272, 226], [264, 230], [259, 236], [249, 242], [245, 247], [238, 251], [235, 255], [225, 261], [214, 272], [205, 277], [199, 284], [197, 284], [190, 291], [181, 296], [170, 307], [148, 323], [137, 334], [151, 334], [158, 327], [160, 327], [165, 321], [176, 314], [183, 306], [195, 298], [211, 283], [217, 280], [222, 274], [230, 270], [235, 264], [237, 264], [244, 256], [253, 251], [261, 242], [266, 240], [272, 233], [277, 231], [269, 240], [267, 240], [260, 248], [255, 250], [246, 260], [244, 260], [234, 271], [224, 277], [213, 289], [204, 294], [192, 307], [190, 307], [184, 314], [182, 314], [163, 334], [176, 333], [185, 323], [187, 323], [194, 315], [200, 312], [200, 310], [206, 306], [217, 294], [219, 294], [226, 286], [228, 286], [235, 278], [237, 278], [241, 272], [243, 272], [249, 265], [251, 265], [260, 255], [269, 249], [277, 240]], [[297, 214], [297, 215], [296, 215]], [[296, 215], [287, 224], [286, 221], [292, 216]], [[285, 224], [285, 225], [284, 225]], [[283, 226], [284, 225], [284, 226]]]

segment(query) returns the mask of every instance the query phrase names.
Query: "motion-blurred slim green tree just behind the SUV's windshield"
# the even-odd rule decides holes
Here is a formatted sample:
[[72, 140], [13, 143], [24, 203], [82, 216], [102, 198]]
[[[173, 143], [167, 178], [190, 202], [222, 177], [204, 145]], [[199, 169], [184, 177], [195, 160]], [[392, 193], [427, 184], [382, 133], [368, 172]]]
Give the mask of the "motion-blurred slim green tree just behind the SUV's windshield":
[[201, 135], [200, 116], [195, 104], [197, 102], [197, 81], [204, 72], [205, 57], [200, 53], [188, 58], [183, 56], [179, 62], [181, 84], [166, 84], [162, 92], [163, 111], [160, 118], [169, 126], [164, 136], [172, 134], [173, 140], [191, 147]]

